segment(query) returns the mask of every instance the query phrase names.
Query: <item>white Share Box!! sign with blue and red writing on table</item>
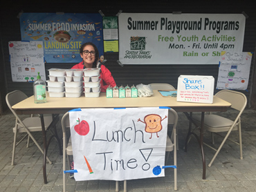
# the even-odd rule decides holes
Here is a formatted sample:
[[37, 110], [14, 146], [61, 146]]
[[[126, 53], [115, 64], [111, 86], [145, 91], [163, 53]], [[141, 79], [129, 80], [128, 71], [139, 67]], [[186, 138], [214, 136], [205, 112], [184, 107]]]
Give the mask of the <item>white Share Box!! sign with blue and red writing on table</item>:
[[212, 104], [214, 77], [202, 75], [180, 75], [177, 102]]

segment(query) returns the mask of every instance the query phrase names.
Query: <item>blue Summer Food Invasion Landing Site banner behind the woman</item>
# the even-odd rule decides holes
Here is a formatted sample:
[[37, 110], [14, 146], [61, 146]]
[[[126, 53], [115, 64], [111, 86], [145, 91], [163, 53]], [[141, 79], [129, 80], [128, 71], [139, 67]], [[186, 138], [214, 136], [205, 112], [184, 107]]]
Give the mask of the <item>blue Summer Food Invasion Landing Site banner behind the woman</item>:
[[21, 41], [43, 41], [46, 63], [79, 63], [80, 46], [92, 42], [103, 59], [102, 16], [98, 13], [23, 13]]

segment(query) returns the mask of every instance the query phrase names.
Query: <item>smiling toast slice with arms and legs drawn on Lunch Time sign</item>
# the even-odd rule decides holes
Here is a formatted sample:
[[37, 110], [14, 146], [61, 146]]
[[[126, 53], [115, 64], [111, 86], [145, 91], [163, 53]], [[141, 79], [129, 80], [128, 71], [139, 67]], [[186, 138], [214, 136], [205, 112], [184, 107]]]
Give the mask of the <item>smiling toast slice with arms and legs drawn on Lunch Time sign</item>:
[[[165, 116], [165, 118], [167, 118], [167, 116]], [[165, 119], [163, 118], [163, 119]], [[162, 130], [163, 126], [161, 124], [161, 122], [163, 121], [162, 117], [160, 115], [156, 115], [156, 114], [150, 114], [150, 115], [146, 115], [144, 117], [144, 122], [141, 121], [140, 119], [138, 119], [138, 122], [143, 122], [145, 125], [145, 131], [147, 133], [151, 133], [151, 137], [149, 139], [152, 138], [152, 133], [156, 133], [156, 136], [158, 136], [158, 132]]]

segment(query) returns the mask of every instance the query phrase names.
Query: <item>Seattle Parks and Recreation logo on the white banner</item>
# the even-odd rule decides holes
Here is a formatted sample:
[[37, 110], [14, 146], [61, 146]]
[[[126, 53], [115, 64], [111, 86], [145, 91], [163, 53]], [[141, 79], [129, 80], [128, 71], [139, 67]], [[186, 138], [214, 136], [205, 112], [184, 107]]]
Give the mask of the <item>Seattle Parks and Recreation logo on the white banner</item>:
[[146, 50], [146, 37], [131, 37], [130, 50], [125, 51], [124, 59], [151, 59], [151, 51]]

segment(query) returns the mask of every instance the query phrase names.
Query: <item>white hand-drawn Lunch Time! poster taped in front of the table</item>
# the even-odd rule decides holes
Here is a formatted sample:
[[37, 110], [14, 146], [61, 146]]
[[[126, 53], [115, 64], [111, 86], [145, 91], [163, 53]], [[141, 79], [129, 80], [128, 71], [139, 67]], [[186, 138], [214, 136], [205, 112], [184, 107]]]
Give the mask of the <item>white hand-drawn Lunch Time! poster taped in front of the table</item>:
[[69, 113], [76, 181], [163, 177], [167, 108], [82, 108]]

